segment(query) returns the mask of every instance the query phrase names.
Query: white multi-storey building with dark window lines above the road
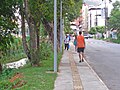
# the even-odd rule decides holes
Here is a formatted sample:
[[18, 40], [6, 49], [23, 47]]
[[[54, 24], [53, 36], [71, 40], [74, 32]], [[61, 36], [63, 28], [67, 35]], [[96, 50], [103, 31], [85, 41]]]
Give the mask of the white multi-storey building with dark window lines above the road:
[[[107, 17], [110, 16], [111, 10], [113, 8], [112, 3], [109, 2], [109, 0], [103, 0], [103, 2], [99, 3], [99, 5], [98, 4], [89, 5], [88, 31], [90, 30], [91, 27], [107, 25], [107, 22], [105, 22], [105, 20], [107, 19]], [[106, 16], [105, 16], [105, 7], [106, 7]]]

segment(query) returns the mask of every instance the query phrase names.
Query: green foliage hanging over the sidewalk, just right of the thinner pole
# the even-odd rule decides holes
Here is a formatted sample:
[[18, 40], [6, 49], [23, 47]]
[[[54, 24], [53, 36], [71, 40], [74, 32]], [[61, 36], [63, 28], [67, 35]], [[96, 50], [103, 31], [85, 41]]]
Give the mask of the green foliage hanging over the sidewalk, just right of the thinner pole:
[[82, 8], [82, 0], [64, 0], [63, 1], [63, 17], [64, 17], [64, 30], [70, 32], [70, 22], [80, 16]]

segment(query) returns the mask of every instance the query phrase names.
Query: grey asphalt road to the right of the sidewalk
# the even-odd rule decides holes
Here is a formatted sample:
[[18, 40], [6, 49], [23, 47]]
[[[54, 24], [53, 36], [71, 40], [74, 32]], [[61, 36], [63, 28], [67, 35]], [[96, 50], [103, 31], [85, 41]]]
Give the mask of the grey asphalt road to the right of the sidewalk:
[[86, 39], [85, 54], [109, 90], [120, 90], [120, 44]]

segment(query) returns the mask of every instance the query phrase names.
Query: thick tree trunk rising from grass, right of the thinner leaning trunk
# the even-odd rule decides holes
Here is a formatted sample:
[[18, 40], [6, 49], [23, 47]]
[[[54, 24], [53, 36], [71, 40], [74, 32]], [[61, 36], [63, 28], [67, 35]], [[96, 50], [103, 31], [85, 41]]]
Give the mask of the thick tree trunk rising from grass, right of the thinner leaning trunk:
[[34, 18], [32, 17], [28, 5], [28, 0], [24, 0], [25, 3], [25, 15], [27, 17], [27, 23], [29, 26], [29, 32], [30, 32], [30, 61], [32, 66], [38, 66], [39, 60], [37, 56], [37, 35], [36, 35], [36, 26], [34, 22]]

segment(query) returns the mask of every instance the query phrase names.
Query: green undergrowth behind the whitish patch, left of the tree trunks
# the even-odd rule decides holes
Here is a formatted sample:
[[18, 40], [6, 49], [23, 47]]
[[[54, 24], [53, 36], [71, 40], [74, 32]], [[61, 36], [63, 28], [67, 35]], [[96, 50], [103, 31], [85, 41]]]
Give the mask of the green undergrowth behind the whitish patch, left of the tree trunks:
[[26, 57], [22, 47], [21, 38], [16, 38], [12, 36], [12, 39], [13, 39], [12, 42], [10, 42], [10, 45], [8, 46], [8, 48], [6, 48], [7, 50], [5, 49], [6, 50], [5, 52], [2, 51], [3, 56], [1, 56], [0, 58], [0, 62], [2, 63], [17, 61]]

